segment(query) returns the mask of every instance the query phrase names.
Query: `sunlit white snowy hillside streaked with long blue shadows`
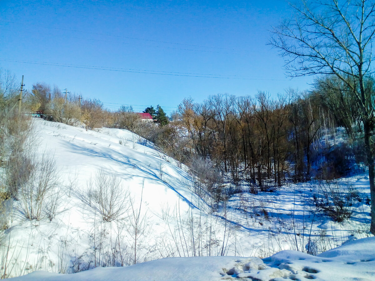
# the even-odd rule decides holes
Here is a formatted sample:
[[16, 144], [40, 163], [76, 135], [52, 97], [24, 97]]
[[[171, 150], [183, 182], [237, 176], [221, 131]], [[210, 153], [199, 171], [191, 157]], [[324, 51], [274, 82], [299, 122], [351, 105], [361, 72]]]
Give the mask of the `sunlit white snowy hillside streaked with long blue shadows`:
[[[138, 239], [146, 240], [147, 237], [147, 243], [141, 245], [144, 250], [140, 249], [140, 261], [161, 257], [158, 253], [147, 257], [147, 252], [158, 239], [163, 238], [162, 233], [168, 230], [166, 214], [172, 214], [176, 206], [185, 220], [189, 214], [207, 208], [207, 204], [189, 190], [190, 176], [178, 168], [173, 159], [140, 145], [138, 136], [127, 130], [86, 131], [37, 118], [33, 123], [35, 141], [39, 143], [37, 153], [55, 159], [65, 190], [59, 208], [61, 213], [52, 221], [29, 221], [20, 211], [21, 200], [13, 203], [12, 224], [6, 230], [10, 234], [9, 263], [13, 269], [7, 272], [10, 276], [36, 269], [60, 272], [64, 266], [70, 272], [72, 261], [78, 263], [78, 269], [74, 271], [93, 267], [93, 256], [97, 255], [93, 239], [101, 232], [106, 241], [114, 241], [121, 236], [121, 241], [131, 248], [132, 238], [127, 235], [126, 222], [120, 220], [123, 229], [118, 222], [103, 222], [82, 201], [87, 182], [95, 179], [101, 169], [120, 179], [124, 193], [129, 190], [135, 209], [140, 204], [142, 206], [147, 236], [140, 235]], [[71, 181], [75, 184], [70, 190]], [[175, 220], [170, 221], [173, 229]], [[110, 242], [107, 244], [105, 247], [110, 251]], [[13, 266], [14, 260], [17, 262]]]

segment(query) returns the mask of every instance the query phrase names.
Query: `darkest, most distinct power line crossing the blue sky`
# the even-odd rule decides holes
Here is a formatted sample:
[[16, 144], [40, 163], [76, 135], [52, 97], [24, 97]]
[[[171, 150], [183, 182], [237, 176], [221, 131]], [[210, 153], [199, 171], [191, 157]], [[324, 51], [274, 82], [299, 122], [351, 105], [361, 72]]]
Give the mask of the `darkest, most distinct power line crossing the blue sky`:
[[[63, 66], [63, 67], [73, 67], [73, 68], [82, 68], [82, 69], [109, 70], [109, 71], [117, 71], [117, 72], [169, 75], [169, 76], [185, 76], [185, 77], [216, 78], [216, 79], [288, 81], [286, 79], [246, 78], [246, 77], [240, 77], [236, 75], [227, 75], [227, 76], [233, 76], [233, 77], [227, 77], [227, 76], [220, 75], [220, 74], [215, 75], [215, 74], [195, 74], [195, 73], [186, 73], [186, 72], [162, 72], [158, 70], [132, 70], [132, 69], [105, 67], [105, 66], [85, 66], [85, 65], [79, 65], [79, 64], [62, 64], [62, 63], [50, 63], [50, 62], [42, 62], [42, 61], [10, 60], [6, 58], [0, 58], [0, 61], [8, 61], [8, 62], [15, 62], [15, 63], [28, 63], [28, 64], [41, 64], [41, 65], [49, 65], [49, 66]], [[161, 73], [157, 73], [157, 72], [161, 72]], [[185, 74], [182, 74], [182, 73], [185, 73]]]

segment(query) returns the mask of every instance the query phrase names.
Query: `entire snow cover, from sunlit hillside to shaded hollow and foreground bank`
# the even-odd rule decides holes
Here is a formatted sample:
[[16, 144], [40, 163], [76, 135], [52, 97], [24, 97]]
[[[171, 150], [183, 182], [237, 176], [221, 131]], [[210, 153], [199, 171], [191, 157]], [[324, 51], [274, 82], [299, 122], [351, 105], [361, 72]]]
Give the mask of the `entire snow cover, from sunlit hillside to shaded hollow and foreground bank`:
[[[218, 210], [211, 212], [210, 206], [191, 191], [193, 183], [186, 167], [178, 168], [175, 160], [154, 149], [152, 143], [141, 145], [139, 136], [127, 130], [86, 131], [37, 118], [34, 127], [39, 143], [37, 153], [50, 155], [56, 161], [62, 182], [61, 202], [52, 220], [39, 221], [25, 218], [20, 211], [21, 200], [13, 203], [12, 223], [5, 231], [9, 248], [2, 253], [3, 257], [4, 251], [8, 253], [6, 274], [9, 277], [43, 270], [50, 273], [39, 272], [27, 278], [68, 280], [68, 275], [52, 273], [132, 265], [136, 260], [137, 263], [151, 262], [120, 269], [93, 269], [72, 275], [74, 278], [69, 280], [111, 280], [109, 277], [112, 280], [219, 280], [247, 278], [258, 271], [260, 280], [276, 277], [299, 280], [303, 274], [306, 278], [342, 280], [324, 279], [323, 276], [329, 276], [325, 275], [329, 273], [329, 266], [324, 265], [352, 266], [355, 270], [348, 276], [354, 277], [353, 274], [363, 271], [357, 277], [371, 280], [365, 265], [374, 263], [359, 262], [362, 257], [345, 257], [355, 261], [353, 265], [346, 265], [346, 261], [340, 262], [339, 256], [330, 257], [328, 263], [323, 256], [282, 251], [308, 248], [310, 253], [319, 254], [348, 240], [368, 237], [370, 207], [365, 200], [369, 196], [366, 175], [341, 179], [362, 198], [356, 202], [352, 218], [341, 223], [314, 212], [312, 200], [320, 188], [314, 181], [287, 185], [273, 193], [243, 192], [226, 204], [220, 203]], [[95, 181], [101, 172], [115, 175], [120, 179], [122, 195], [127, 191], [130, 194], [127, 211], [114, 221], [103, 221], [87, 197], [90, 179]], [[366, 247], [374, 249], [374, 239], [368, 241], [363, 243], [370, 243]], [[275, 254], [279, 251], [282, 252]], [[192, 257], [221, 254], [255, 258]], [[273, 254], [270, 259], [259, 259]], [[292, 263], [288, 264], [289, 261]], [[318, 273], [309, 272], [309, 268], [317, 269]], [[284, 275], [274, 276], [273, 272], [284, 272]], [[127, 277], [121, 279], [125, 274]]]

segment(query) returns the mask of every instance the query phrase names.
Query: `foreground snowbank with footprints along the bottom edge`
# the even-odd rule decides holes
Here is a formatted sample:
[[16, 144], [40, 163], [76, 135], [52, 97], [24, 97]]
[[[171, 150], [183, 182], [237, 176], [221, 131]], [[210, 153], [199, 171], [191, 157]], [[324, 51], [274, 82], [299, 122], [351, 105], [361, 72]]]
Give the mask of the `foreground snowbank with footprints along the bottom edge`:
[[166, 258], [124, 268], [96, 268], [63, 275], [34, 272], [20, 281], [191, 280], [375, 280], [375, 238], [351, 241], [319, 256], [281, 251], [266, 259], [244, 257]]

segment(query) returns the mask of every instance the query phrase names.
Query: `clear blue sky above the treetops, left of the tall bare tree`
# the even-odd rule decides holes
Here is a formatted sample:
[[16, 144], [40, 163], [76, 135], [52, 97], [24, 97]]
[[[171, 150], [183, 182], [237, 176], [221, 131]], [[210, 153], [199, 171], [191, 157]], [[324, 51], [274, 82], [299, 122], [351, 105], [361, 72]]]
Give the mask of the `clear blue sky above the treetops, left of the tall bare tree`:
[[0, 0], [0, 67], [24, 75], [27, 89], [46, 82], [108, 106], [142, 105], [136, 111], [160, 104], [169, 113], [189, 96], [305, 90], [312, 78], [286, 78], [284, 60], [266, 45], [267, 30], [291, 12], [284, 0]]

